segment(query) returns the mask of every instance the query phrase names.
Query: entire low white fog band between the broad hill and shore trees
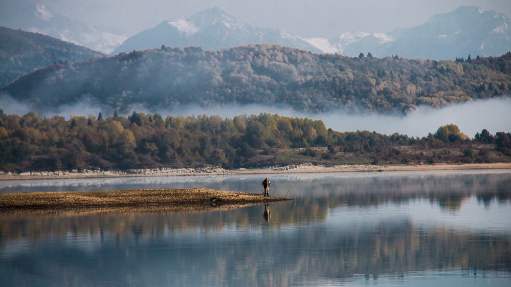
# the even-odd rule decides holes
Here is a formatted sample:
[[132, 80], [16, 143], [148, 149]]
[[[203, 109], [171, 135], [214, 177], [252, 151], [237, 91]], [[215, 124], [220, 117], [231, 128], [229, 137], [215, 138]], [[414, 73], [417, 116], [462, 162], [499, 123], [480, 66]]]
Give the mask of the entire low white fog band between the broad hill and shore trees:
[[[0, 95], [0, 107], [5, 114], [24, 115], [30, 111], [30, 107], [18, 103], [7, 95]], [[101, 112], [105, 118], [114, 113], [112, 107], [98, 104], [89, 98], [83, 99], [79, 104], [62, 105], [51, 112], [37, 111], [43, 117], [54, 115], [64, 116], [66, 119], [73, 115], [95, 117]], [[430, 106], [419, 106], [416, 111], [403, 116], [401, 113], [376, 114], [370, 111], [361, 111], [353, 114], [346, 111], [338, 111], [324, 114], [311, 114], [296, 112], [289, 106], [282, 105], [223, 105], [215, 107], [199, 107], [192, 105], [179, 106], [169, 109], [150, 111], [142, 104], [130, 107], [130, 115], [133, 111], [146, 114], [160, 113], [164, 118], [167, 115], [198, 116], [218, 115], [222, 118], [233, 118], [242, 114], [259, 115], [260, 113], [279, 114], [286, 117], [309, 118], [322, 120], [327, 128], [338, 131], [369, 130], [380, 134], [391, 135], [399, 133], [411, 137], [424, 137], [429, 133], [435, 133], [439, 126], [454, 123], [467, 136], [473, 138], [476, 133], [485, 128], [491, 134], [497, 131], [511, 131], [511, 97], [500, 97], [485, 100], [477, 100], [455, 104], [441, 109]], [[120, 113], [121, 114], [121, 113]]]

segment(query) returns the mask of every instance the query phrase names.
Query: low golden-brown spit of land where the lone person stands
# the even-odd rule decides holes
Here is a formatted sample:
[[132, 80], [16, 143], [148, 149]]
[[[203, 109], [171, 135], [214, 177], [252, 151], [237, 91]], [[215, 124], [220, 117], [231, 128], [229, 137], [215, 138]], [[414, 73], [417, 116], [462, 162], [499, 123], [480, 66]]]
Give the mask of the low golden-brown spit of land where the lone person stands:
[[186, 189], [131, 189], [85, 192], [26, 192], [0, 194], [0, 215], [17, 212], [196, 212], [225, 210], [291, 200], [260, 193]]

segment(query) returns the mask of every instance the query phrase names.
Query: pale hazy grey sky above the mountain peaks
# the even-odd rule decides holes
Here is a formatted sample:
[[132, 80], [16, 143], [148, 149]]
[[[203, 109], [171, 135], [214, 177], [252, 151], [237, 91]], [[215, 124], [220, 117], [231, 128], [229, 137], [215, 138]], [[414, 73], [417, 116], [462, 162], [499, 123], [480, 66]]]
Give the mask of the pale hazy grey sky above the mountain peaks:
[[46, 5], [89, 26], [126, 36], [212, 7], [252, 27], [279, 28], [305, 38], [414, 27], [461, 5], [511, 17], [509, 0], [0, 0], [0, 17], [15, 17], [13, 11], [28, 4]]

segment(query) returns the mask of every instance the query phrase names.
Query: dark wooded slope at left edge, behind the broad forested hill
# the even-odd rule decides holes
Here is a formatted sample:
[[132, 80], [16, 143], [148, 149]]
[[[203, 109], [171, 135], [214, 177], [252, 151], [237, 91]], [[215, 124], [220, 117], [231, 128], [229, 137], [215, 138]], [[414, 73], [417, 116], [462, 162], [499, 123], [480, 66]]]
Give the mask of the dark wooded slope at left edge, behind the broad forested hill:
[[104, 54], [50, 36], [0, 27], [0, 87], [53, 63]]

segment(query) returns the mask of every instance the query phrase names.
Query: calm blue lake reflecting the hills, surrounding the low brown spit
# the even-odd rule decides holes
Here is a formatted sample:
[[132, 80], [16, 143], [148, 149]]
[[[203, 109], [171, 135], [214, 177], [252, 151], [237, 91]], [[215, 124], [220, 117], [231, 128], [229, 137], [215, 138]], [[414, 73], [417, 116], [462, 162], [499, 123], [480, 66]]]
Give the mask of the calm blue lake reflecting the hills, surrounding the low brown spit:
[[[511, 172], [271, 176], [292, 202], [191, 214], [0, 214], [0, 286], [511, 286]], [[0, 182], [0, 193], [264, 176]], [[289, 196], [289, 195], [288, 195]]]

